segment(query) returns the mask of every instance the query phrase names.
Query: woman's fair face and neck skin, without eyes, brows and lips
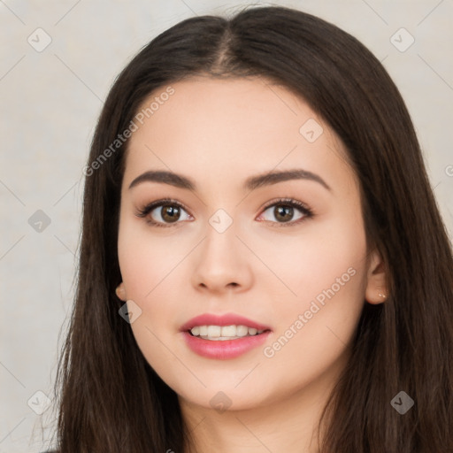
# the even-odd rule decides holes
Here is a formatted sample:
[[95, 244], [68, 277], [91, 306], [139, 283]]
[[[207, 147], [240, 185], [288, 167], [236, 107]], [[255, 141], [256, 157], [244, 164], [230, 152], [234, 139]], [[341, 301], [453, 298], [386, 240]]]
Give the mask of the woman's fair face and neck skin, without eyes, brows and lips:
[[[142, 310], [131, 324], [134, 336], [179, 395], [197, 452], [315, 452], [319, 414], [347, 363], [364, 303], [382, 303], [379, 295], [386, 294], [380, 254], [368, 250], [365, 240], [357, 176], [333, 130], [287, 88], [262, 78], [208, 77], [172, 87], [173, 96], [129, 142], [117, 294]], [[315, 142], [299, 132], [308, 119], [324, 130]], [[242, 188], [252, 175], [292, 168], [318, 174], [331, 190], [314, 180]], [[197, 189], [150, 181], [129, 189], [148, 170], [182, 173]], [[159, 207], [148, 218], [166, 219], [167, 227], [135, 215], [164, 197], [188, 208], [176, 224], [161, 218]], [[296, 223], [304, 214], [295, 208], [285, 223], [274, 211], [282, 203], [264, 209], [280, 197], [307, 204], [314, 217]], [[220, 208], [233, 220], [224, 233], [209, 223]], [[295, 329], [316, 296], [351, 267], [354, 276]], [[265, 345], [240, 357], [200, 357], [179, 329], [206, 312], [237, 313], [273, 332]], [[290, 326], [296, 334], [265, 357], [265, 347], [272, 348]], [[231, 402], [226, 411], [211, 406], [219, 391]]]

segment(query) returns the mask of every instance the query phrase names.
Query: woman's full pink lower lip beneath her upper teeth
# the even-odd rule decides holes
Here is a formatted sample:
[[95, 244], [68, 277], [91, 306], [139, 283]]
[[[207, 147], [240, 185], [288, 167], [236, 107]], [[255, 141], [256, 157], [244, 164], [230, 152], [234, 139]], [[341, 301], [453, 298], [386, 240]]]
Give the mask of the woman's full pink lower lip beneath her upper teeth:
[[242, 354], [263, 344], [271, 331], [263, 334], [244, 336], [235, 340], [203, 340], [188, 332], [183, 332], [184, 340], [188, 347], [196, 354], [208, 358], [226, 359], [239, 357]]

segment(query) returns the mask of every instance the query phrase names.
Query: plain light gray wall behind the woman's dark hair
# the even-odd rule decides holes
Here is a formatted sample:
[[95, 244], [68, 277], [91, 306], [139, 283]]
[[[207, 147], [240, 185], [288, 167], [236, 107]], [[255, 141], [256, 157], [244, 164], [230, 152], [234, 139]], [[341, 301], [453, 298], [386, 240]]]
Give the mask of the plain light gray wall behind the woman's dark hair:
[[[27, 402], [31, 398], [30, 406], [39, 409], [44, 400], [36, 391], [52, 397], [73, 300], [82, 168], [112, 81], [166, 28], [194, 15], [231, 15], [245, 4], [250, 2], [0, 0], [0, 453], [49, 447], [52, 409], [40, 417]], [[383, 61], [411, 112], [451, 237], [453, 1], [273, 4], [333, 22]], [[35, 46], [42, 45], [38, 27], [51, 38], [42, 51], [27, 42], [31, 36]], [[391, 42], [401, 27], [415, 39], [405, 51]], [[400, 32], [393, 41], [401, 41], [401, 48], [409, 39]], [[28, 222], [37, 210], [50, 218], [41, 232]]]

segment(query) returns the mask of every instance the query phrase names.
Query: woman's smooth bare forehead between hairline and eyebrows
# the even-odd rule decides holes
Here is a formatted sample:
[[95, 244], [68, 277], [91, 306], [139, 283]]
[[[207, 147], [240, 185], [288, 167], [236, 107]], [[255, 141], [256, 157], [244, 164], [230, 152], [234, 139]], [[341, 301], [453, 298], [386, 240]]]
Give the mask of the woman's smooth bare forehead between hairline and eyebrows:
[[301, 96], [265, 78], [179, 81], [155, 90], [137, 113], [126, 182], [150, 169], [212, 183], [296, 167], [351, 176], [334, 131]]

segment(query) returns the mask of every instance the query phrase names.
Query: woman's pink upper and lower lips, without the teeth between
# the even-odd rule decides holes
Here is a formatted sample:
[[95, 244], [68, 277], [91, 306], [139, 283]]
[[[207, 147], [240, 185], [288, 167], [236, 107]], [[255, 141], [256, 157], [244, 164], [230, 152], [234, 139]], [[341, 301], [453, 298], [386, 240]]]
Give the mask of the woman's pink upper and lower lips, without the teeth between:
[[[190, 329], [195, 326], [248, 326], [254, 327], [257, 330], [264, 330], [265, 332], [262, 334], [236, 338], [234, 340], [203, 340], [203, 338], [190, 334]], [[199, 356], [215, 359], [228, 359], [239, 357], [250, 349], [257, 348], [257, 346], [263, 344], [269, 334], [271, 334], [271, 329], [269, 326], [258, 324], [255, 321], [233, 313], [227, 313], [225, 315], [204, 313], [203, 315], [188, 320], [188, 322], [180, 327], [180, 332], [182, 333], [188, 348], [192, 349]]]

